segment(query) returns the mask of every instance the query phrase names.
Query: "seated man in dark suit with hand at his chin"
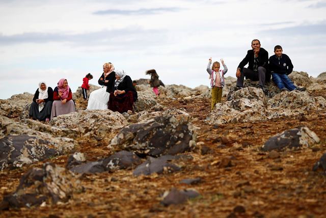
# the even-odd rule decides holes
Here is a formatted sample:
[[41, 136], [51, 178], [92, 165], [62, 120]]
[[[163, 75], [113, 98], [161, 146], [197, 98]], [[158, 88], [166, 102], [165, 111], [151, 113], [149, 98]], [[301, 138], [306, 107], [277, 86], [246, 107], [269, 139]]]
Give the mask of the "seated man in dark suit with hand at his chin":
[[[248, 50], [246, 57], [240, 62], [236, 70], [236, 87], [237, 89], [242, 89], [244, 76], [246, 76], [247, 79], [253, 81], [259, 80], [259, 87], [266, 93], [265, 79], [268, 66], [268, 52], [260, 47], [258, 39], [254, 39], [251, 42], [251, 47], [253, 49]], [[248, 68], [245, 68], [244, 66], [248, 63]], [[269, 79], [267, 78], [267, 80]]]

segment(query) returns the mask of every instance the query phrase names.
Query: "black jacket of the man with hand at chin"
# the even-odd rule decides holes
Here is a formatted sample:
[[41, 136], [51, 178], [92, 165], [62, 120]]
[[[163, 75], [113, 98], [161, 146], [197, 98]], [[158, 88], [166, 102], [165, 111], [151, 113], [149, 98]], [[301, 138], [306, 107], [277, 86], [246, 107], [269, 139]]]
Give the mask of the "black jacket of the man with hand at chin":
[[[267, 69], [268, 67], [268, 52], [264, 48], [260, 48], [258, 57], [255, 58], [257, 67], [264, 67]], [[246, 57], [240, 62], [238, 68], [240, 68], [240, 71], [243, 69], [246, 64], [249, 63], [248, 69], [251, 69], [254, 71], [254, 49], [248, 50]]]

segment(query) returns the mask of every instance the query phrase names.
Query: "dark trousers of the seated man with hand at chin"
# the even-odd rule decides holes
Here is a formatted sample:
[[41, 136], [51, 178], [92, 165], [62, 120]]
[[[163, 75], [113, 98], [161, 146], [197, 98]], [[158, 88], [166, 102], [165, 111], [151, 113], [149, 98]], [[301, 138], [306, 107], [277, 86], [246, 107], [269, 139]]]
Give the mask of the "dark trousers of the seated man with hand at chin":
[[243, 80], [244, 76], [246, 76], [246, 79], [250, 79], [253, 81], [259, 81], [259, 86], [264, 87], [265, 86], [265, 75], [266, 75], [266, 68], [264, 67], [258, 67], [258, 72], [254, 72], [251, 69], [243, 68], [241, 70], [241, 75], [236, 80], [236, 86], [243, 87]]

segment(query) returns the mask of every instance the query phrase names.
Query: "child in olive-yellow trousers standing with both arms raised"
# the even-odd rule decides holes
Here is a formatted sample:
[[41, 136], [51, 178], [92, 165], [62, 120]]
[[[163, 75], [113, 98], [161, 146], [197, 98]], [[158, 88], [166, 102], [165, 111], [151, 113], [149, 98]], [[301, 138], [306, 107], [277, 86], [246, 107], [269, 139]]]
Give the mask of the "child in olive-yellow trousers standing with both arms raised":
[[220, 70], [220, 63], [218, 61], [215, 61], [210, 68], [211, 63], [212, 58], [210, 57], [208, 59], [207, 72], [209, 73], [210, 87], [212, 89], [211, 111], [213, 111], [215, 104], [221, 102], [224, 87], [224, 74], [226, 74], [228, 68], [223, 59], [221, 59], [223, 70]]

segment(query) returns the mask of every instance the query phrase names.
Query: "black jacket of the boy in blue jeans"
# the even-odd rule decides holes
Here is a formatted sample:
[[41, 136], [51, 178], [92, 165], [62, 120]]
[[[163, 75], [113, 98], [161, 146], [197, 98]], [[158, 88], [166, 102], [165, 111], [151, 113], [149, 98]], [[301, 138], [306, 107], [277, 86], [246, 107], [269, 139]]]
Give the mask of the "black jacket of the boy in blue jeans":
[[268, 69], [270, 73], [286, 74], [289, 75], [293, 70], [291, 59], [282, 54], [280, 60], [276, 55], [270, 56]]

